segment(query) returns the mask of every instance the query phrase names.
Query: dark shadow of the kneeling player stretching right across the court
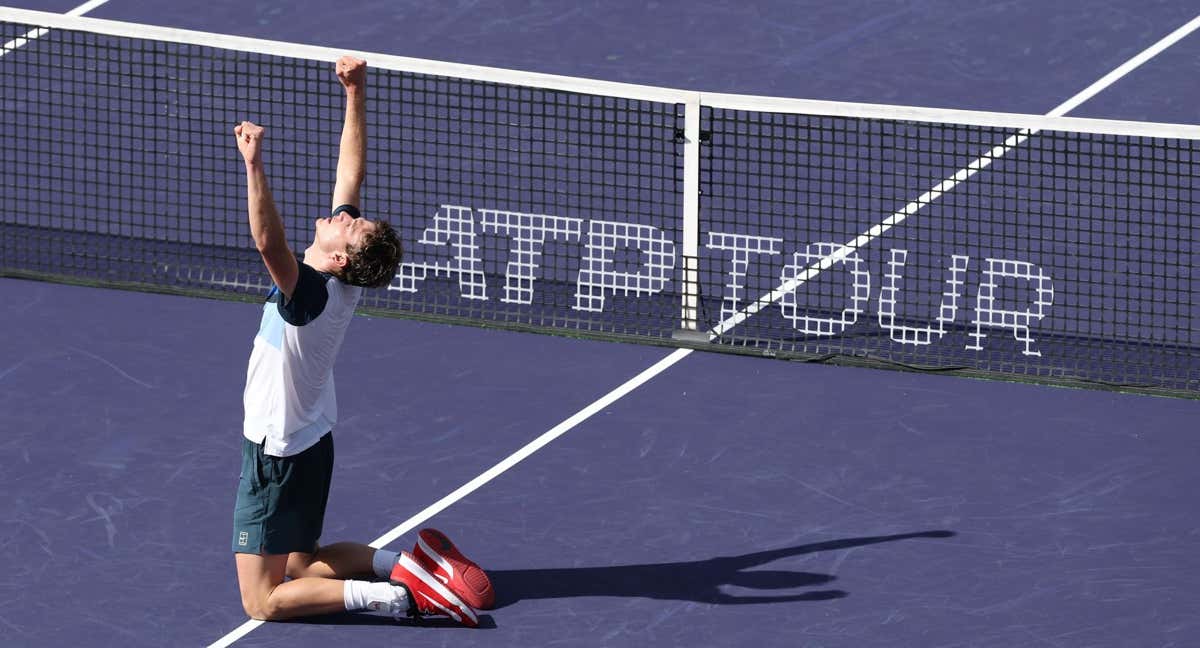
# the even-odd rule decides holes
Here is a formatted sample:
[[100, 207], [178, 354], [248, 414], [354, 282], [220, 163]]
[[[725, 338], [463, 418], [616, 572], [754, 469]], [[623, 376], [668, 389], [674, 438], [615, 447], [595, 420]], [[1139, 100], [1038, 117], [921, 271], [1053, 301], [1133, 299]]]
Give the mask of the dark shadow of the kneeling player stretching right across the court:
[[[718, 605], [750, 605], [793, 601], [826, 601], [847, 596], [840, 589], [775, 594], [823, 586], [835, 576], [806, 571], [756, 570], [782, 558], [836, 551], [916, 538], [953, 538], [954, 532], [930, 530], [870, 538], [847, 538], [743, 556], [709, 558], [691, 563], [617, 565], [599, 568], [488, 570], [496, 588], [496, 607], [527, 599], [574, 596], [624, 596], [682, 600]], [[758, 590], [731, 594], [722, 588]], [[770, 593], [770, 594], [768, 594]]]

